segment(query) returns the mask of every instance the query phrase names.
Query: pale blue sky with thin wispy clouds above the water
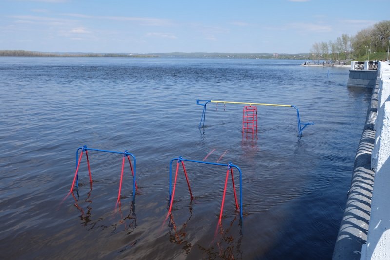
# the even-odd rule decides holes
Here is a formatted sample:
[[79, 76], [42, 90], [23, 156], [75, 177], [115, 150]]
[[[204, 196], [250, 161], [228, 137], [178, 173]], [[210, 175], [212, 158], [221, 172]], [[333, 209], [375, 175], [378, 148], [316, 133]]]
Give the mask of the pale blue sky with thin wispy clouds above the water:
[[0, 50], [307, 53], [390, 0], [0, 0]]

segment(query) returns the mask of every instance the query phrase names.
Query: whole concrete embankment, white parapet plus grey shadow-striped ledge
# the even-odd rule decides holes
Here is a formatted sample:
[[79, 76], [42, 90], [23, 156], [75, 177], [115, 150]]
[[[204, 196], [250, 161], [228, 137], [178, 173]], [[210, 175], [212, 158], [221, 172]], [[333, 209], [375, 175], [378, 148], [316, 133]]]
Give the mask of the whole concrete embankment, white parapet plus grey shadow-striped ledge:
[[[347, 194], [333, 260], [371, 259], [375, 252], [387, 256], [377, 259], [390, 259], [390, 204], [387, 202], [390, 201], [390, 99], [387, 94], [390, 92], [389, 77], [390, 66], [387, 62], [380, 62], [355, 157], [351, 189]], [[383, 91], [387, 86], [389, 90]], [[378, 166], [375, 164], [373, 167], [371, 162]], [[386, 176], [386, 171], [389, 180], [378, 180], [377, 176]], [[381, 187], [377, 188], [378, 186]], [[388, 194], [383, 194], [384, 187], [388, 187]], [[375, 195], [376, 193], [378, 195]], [[375, 198], [379, 200], [375, 202]], [[382, 240], [383, 234], [388, 234], [389, 238]]]

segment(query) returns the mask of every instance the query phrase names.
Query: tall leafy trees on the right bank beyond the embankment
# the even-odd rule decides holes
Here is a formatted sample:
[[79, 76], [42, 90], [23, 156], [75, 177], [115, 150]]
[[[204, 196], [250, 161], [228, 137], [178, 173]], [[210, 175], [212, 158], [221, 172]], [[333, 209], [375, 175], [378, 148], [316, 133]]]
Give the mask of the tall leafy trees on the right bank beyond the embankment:
[[335, 41], [314, 43], [310, 49], [310, 58], [316, 62], [328, 62], [387, 52], [389, 37], [390, 20], [384, 20], [359, 31], [355, 36], [342, 34]]

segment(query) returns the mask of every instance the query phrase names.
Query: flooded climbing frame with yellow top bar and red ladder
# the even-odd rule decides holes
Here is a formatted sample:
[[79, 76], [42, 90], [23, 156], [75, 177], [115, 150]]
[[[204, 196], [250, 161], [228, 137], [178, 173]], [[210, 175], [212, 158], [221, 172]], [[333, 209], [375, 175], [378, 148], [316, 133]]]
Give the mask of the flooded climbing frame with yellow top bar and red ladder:
[[[201, 103], [202, 102], [202, 103]], [[301, 122], [299, 116], [299, 110], [294, 105], [279, 105], [279, 104], [265, 104], [265, 103], [250, 103], [250, 102], [232, 102], [232, 101], [216, 101], [216, 100], [196, 100], [197, 105], [203, 106], [202, 117], [200, 118], [199, 128], [204, 128], [204, 123], [206, 119], [206, 105], [208, 103], [222, 103], [226, 104], [240, 104], [240, 105], [249, 105], [245, 106], [243, 110], [242, 118], [242, 132], [252, 132], [257, 133], [257, 107], [255, 106], [275, 106], [275, 107], [293, 107], [296, 109], [296, 116], [298, 121], [298, 139], [302, 137], [302, 131], [308, 125], [313, 125], [314, 123], [303, 123]]]

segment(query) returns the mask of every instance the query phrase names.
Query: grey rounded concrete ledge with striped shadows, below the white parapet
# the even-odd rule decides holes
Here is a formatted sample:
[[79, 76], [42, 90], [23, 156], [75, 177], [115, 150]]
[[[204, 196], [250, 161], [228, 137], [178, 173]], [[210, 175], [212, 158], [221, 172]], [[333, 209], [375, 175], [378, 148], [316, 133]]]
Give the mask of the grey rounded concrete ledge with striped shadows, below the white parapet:
[[375, 142], [374, 124], [378, 107], [378, 85], [372, 89], [366, 122], [355, 156], [351, 188], [347, 193], [344, 216], [338, 232], [333, 260], [359, 260], [366, 242], [374, 183], [371, 154]]

